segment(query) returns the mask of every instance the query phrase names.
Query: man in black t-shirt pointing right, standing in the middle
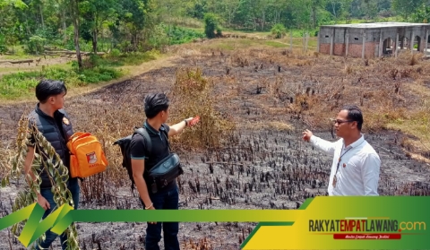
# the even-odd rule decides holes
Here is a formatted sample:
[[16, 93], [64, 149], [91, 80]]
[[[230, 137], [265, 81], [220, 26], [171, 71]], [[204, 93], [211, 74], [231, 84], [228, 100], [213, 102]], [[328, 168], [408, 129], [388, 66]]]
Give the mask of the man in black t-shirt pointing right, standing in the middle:
[[[180, 134], [186, 126], [191, 126], [193, 117], [184, 121], [168, 126], [168, 106], [169, 100], [163, 93], [150, 94], [145, 98], [145, 115], [147, 120], [143, 127], [150, 135], [152, 149], [146, 155], [146, 144], [141, 134], [134, 134], [130, 142], [132, 159], [133, 179], [140, 194], [141, 201], [146, 210], [166, 209], [177, 210], [179, 203], [178, 187], [176, 180], [167, 186], [157, 190], [155, 194], [150, 192], [150, 180], [143, 176], [145, 168], [154, 167], [159, 160], [168, 156], [168, 137]], [[168, 136], [166, 136], [168, 134]], [[149, 222], [146, 229], [146, 250], [159, 250], [159, 240], [161, 239], [161, 228], [164, 232], [164, 247], [166, 250], [177, 250], [179, 241], [177, 233], [179, 230], [178, 222]]]

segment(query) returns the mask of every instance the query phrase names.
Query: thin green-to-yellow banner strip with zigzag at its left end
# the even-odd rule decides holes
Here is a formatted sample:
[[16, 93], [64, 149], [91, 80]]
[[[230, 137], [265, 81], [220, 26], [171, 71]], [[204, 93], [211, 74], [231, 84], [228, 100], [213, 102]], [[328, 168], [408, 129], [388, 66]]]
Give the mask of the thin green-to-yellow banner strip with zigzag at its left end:
[[[18, 238], [25, 247], [38, 239], [47, 229], [61, 234], [65, 228], [76, 222], [258, 222], [272, 225], [292, 225], [303, 211], [281, 210], [73, 210], [64, 204], [41, 220], [44, 210], [33, 203], [20, 211], [0, 219], [0, 230], [22, 220], [27, 220]], [[278, 223], [278, 224], [277, 224]], [[282, 225], [284, 225], [282, 224]], [[256, 230], [255, 230], [256, 231]]]

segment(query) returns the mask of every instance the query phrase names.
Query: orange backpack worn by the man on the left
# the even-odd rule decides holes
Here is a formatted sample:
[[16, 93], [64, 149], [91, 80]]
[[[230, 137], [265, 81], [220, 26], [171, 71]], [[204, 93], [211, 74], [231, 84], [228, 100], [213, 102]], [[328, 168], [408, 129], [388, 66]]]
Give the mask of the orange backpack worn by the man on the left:
[[76, 132], [67, 142], [70, 155], [71, 177], [90, 177], [107, 168], [105, 152], [96, 136]]

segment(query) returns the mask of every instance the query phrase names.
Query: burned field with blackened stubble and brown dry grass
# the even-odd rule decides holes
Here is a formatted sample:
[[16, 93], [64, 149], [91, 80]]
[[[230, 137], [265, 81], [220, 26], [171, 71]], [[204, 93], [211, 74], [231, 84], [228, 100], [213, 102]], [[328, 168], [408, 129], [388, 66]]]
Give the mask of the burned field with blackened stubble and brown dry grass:
[[[176, 54], [177, 67], [66, 100], [75, 130], [97, 134], [110, 163], [105, 173], [82, 182], [80, 209], [142, 209], [130, 190], [119, 148], [112, 144], [142, 125], [142, 99], [150, 91], [172, 96], [170, 124], [201, 112], [193, 114], [202, 116], [200, 127], [172, 139], [185, 169], [178, 179], [180, 209], [292, 210], [306, 198], [327, 195], [332, 158], [303, 142], [301, 132], [307, 128], [336, 140], [329, 118], [346, 103], [365, 112], [366, 140], [383, 161], [380, 195], [430, 194], [429, 150], [418, 147], [413, 134], [387, 129], [396, 119], [415, 119], [426, 111], [429, 62], [409, 55], [346, 60], [273, 48], [219, 51], [190, 46]], [[185, 89], [204, 99], [193, 91], [177, 91]], [[0, 107], [2, 141], [13, 145], [13, 125], [34, 104]], [[203, 122], [204, 117], [211, 122]], [[225, 131], [212, 130], [211, 125]], [[206, 143], [198, 144], [202, 141]], [[205, 144], [211, 148], [202, 147]], [[2, 215], [11, 211], [20, 186], [22, 181], [14, 181], [2, 190]], [[77, 224], [82, 249], [144, 245], [145, 223]], [[239, 249], [255, 225], [180, 223], [179, 240], [183, 249]], [[0, 237], [9, 239], [0, 243], [1, 249], [22, 248], [7, 230]]]

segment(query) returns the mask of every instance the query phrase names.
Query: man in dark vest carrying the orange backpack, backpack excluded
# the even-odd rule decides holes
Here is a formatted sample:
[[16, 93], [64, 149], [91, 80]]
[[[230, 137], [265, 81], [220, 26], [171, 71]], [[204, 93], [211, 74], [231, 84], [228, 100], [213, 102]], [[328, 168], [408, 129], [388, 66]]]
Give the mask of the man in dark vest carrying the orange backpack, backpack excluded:
[[[24, 163], [24, 172], [30, 174], [33, 181], [36, 177], [32, 171], [30, 171], [31, 164], [34, 159], [35, 153], [40, 156], [47, 158], [48, 152], [40, 149], [36, 142], [36, 136], [34, 132], [39, 131], [56, 150], [56, 153], [63, 161], [66, 168], [70, 166], [70, 152], [67, 149], [67, 142], [73, 135], [73, 126], [70, 122], [69, 116], [64, 111], [64, 96], [67, 93], [64, 82], [54, 80], [42, 80], [36, 86], [36, 97], [39, 99], [39, 103], [36, 108], [30, 113], [29, 116], [29, 128], [32, 138], [30, 139], [30, 145], [28, 145], [27, 157]], [[42, 219], [45, 219], [47, 215], [56, 210], [56, 202], [54, 201], [54, 194], [51, 191], [53, 184], [51, 179], [54, 178], [49, 173], [48, 169], [44, 166], [40, 166], [39, 173], [41, 178], [40, 193], [38, 194], [38, 203], [45, 210]], [[69, 170], [70, 175], [70, 170]], [[78, 178], [70, 177], [67, 180], [67, 188], [70, 190], [73, 198], [73, 207], [78, 209], [80, 187]], [[36, 249], [47, 249], [56, 240], [57, 235], [50, 230], [46, 232], [45, 240], [36, 243]], [[61, 246], [63, 249], [66, 248], [67, 236], [62, 234], [60, 236]]]

